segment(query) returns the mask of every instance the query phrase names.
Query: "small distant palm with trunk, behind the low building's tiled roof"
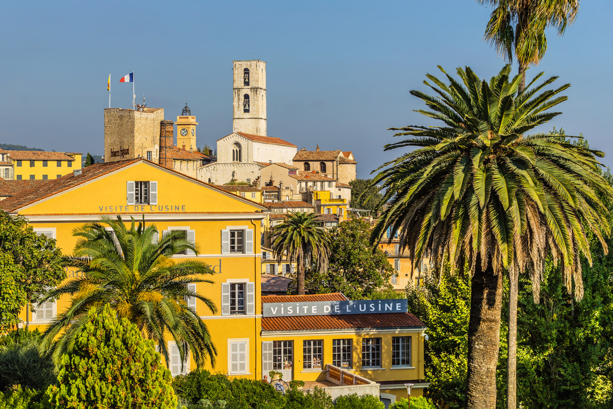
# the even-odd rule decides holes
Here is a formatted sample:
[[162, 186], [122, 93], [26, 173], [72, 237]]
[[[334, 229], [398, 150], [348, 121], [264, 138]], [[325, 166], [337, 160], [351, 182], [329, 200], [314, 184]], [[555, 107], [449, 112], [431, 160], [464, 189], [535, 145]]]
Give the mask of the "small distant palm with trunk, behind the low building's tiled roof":
[[270, 236], [276, 259], [295, 261], [298, 267], [298, 294], [305, 293], [305, 270], [316, 262], [318, 269], [328, 268], [330, 240], [315, 213], [290, 212], [287, 219], [273, 227]]

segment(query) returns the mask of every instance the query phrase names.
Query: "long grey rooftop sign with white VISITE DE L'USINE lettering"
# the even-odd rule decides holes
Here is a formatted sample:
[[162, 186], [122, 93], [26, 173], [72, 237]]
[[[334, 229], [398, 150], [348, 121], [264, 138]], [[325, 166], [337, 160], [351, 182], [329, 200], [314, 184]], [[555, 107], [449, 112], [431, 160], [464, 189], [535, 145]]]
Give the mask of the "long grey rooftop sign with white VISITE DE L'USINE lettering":
[[408, 300], [265, 302], [264, 317], [406, 313]]

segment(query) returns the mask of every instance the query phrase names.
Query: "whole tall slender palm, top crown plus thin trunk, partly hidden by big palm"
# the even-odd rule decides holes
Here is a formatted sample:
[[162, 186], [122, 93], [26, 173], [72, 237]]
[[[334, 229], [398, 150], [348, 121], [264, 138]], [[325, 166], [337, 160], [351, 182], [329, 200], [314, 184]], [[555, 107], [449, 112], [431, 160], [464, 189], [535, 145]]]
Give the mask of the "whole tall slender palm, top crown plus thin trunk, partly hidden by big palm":
[[[525, 88], [526, 69], [538, 64], [547, 50], [545, 29], [555, 27], [562, 36], [579, 13], [579, 0], [481, 0], [493, 6], [485, 28], [499, 54], [511, 63], [513, 53], [522, 75], [518, 91]], [[515, 28], [513, 27], [515, 25]], [[517, 407], [517, 291], [518, 283], [509, 281], [509, 331], [507, 342], [507, 409]]]

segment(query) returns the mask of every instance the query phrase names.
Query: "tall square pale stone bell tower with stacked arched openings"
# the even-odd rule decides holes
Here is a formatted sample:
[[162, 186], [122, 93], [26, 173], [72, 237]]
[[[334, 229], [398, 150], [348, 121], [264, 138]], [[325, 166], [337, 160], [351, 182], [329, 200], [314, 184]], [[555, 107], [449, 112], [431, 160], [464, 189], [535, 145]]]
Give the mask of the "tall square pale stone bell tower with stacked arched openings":
[[266, 135], [266, 63], [234, 61], [232, 131]]

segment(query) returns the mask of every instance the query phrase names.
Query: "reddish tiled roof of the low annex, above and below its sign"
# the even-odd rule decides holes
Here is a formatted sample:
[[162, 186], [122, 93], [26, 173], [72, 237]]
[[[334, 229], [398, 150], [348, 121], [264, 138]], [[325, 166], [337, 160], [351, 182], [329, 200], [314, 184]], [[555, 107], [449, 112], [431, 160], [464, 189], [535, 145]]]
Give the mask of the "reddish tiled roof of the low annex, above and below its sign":
[[[340, 292], [306, 296], [262, 296], [265, 302], [301, 302], [347, 300]], [[425, 327], [411, 313], [312, 315], [263, 317], [262, 331], [321, 331], [327, 329], [371, 329]]]

